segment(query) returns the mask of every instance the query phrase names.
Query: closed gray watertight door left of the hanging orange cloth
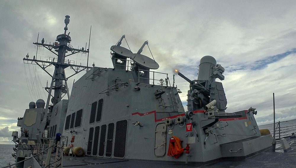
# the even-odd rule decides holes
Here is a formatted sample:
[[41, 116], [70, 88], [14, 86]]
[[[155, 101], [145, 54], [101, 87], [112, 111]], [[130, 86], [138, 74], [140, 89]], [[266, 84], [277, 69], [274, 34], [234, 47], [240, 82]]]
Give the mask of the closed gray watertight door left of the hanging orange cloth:
[[165, 155], [165, 145], [166, 144], [166, 126], [165, 123], [157, 124], [155, 130], [155, 156]]

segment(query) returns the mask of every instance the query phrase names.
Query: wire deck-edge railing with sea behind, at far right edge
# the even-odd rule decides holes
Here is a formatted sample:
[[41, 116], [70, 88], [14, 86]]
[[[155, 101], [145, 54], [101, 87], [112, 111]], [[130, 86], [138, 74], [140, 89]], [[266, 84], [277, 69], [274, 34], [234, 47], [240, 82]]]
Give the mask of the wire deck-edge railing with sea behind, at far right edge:
[[[271, 135], [274, 134], [274, 129], [273, 129], [273, 124], [266, 124], [266, 125], [261, 125], [266, 126]], [[276, 128], [275, 128], [275, 137], [276, 139], [281, 139], [285, 137], [289, 137], [292, 135], [292, 133], [296, 132], [296, 119], [290, 120], [290, 121], [279, 121], [276, 123]]]

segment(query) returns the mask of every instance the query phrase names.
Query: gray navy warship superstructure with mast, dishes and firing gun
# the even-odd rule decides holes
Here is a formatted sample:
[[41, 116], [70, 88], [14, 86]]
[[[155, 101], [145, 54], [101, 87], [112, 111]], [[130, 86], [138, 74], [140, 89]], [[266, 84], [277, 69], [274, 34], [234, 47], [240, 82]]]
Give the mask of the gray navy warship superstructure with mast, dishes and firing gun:
[[[17, 167], [32, 163], [34, 167], [53, 166], [42, 161], [45, 154], [33, 157], [46, 147], [51, 153], [53, 144], [58, 152], [63, 149], [54, 167], [62, 167], [62, 158], [70, 158], [64, 154], [104, 163], [205, 165], [221, 159], [245, 159], [271, 148], [272, 135], [258, 128], [255, 108], [225, 112], [223, 85], [216, 81], [224, 80], [224, 68], [214, 57], [201, 58], [197, 79], [188, 79], [176, 70], [189, 86], [185, 110], [181, 91], [174, 85], [175, 75], [171, 80], [168, 73], [156, 72], [159, 65], [154, 57], [141, 54], [148, 41], [133, 53], [120, 46], [123, 35], [110, 48], [113, 68], [76, 65], [67, 60], [78, 52], [89, 53], [89, 49], [70, 45], [69, 18], [66, 16], [65, 32], [57, 36], [57, 42], [46, 44], [42, 39], [33, 43], [51, 51], [56, 59], [23, 59], [44, 71], [51, 65], [55, 68], [53, 74], [46, 71], [52, 77], [50, 87], [45, 88], [49, 92], [46, 103], [42, 99], [30, 102], [24, 116], [18, 118], [20, 133], [12, 133], [16, 143], [12, 156]], [[66, 77], [68, 67], [75, 73]], [[70, 95], [67, 79], [82, 71], [86, 73], [75, 81]], [[62, 99], [65, 95], [68, 99]], [[60, 164], [56, 164], [58, 161]], [[79, 165], [83, 164], [68, 166]]]

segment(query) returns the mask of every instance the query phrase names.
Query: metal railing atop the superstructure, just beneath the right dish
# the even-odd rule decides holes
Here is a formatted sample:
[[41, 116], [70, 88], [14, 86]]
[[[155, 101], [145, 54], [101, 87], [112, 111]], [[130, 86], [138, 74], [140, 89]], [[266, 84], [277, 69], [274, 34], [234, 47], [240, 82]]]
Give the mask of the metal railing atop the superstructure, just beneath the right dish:
[[[142, 73], [149, 73], [149, 78], [141, 77]], [[147, 79], [147, 80], [149, 80], [149, 84], [151, 84], [151, 85], [169, 86], [169, 84], [168, 84], [168, 73], [161, 73], [161, 72], [155, 72], [155, 71], [148, 71], [148, 70], [139, 69], [138, 76], [139, 76], [138, 77], [138, 82], [139, 83], [140, 83], [140, 79]]]

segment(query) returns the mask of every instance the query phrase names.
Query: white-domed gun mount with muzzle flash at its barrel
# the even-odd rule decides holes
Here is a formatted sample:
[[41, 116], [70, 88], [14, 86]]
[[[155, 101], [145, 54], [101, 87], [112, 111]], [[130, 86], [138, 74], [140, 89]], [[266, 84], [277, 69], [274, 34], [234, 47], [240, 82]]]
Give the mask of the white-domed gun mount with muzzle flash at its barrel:
[[216, 78], [224, 80], [224, 68], [217, 64], [212, 56], [204, 56], [200, 60], [197, 80], [191, 81], [182, 73], [178, 75], [190, 83], [188, 90], [188, 110], [194, 111], [203, 109], [207, 104], [216, 100], [216, 107], [219, 113], [226, 110], [226, 96], [221, 82]]

